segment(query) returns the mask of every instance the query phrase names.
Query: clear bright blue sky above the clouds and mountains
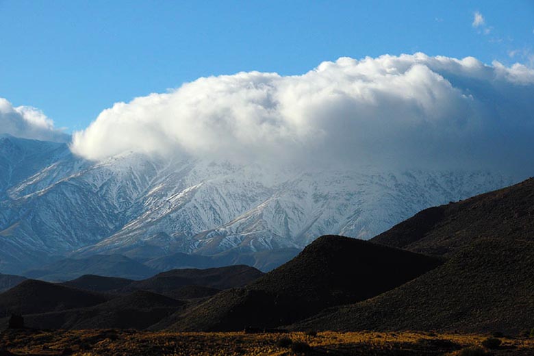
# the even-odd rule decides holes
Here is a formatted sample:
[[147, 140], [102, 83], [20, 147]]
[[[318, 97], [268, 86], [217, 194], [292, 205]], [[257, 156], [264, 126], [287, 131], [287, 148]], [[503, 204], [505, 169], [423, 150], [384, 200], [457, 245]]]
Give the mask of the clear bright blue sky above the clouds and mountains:
[[418, 51], [532, 66], [534, 2], [0, 0], [0, 34], [0, 97], [70, 132], [201, 76]]

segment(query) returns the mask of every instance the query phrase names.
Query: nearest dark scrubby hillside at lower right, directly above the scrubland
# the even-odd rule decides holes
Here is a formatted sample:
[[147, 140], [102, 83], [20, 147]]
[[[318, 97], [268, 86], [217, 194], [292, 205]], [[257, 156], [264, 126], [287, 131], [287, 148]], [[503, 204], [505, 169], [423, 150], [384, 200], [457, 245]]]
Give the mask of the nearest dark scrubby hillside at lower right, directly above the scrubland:
[[534, 242], [479, 240], [442, 266], [293, 329], [518, 333], [534, 320]]

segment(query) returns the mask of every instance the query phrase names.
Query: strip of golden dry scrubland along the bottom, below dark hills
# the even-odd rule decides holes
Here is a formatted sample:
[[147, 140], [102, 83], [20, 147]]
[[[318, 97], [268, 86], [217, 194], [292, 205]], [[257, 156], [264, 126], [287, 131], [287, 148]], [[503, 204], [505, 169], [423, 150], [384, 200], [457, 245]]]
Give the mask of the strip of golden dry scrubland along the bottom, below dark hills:
[[[489, 335], [434, 333], [170, 333], [117, 330], [8, 330], [0, 336], [0, 355], [534, 355], [534, 340], [499, 338], [498, 348], [483, 347]], [[283, 345], [289, 338], [303, 353]], [[286, 340], [286, 343], [287, 340]], [[309, 350], [306, 351], [306, 345]]]

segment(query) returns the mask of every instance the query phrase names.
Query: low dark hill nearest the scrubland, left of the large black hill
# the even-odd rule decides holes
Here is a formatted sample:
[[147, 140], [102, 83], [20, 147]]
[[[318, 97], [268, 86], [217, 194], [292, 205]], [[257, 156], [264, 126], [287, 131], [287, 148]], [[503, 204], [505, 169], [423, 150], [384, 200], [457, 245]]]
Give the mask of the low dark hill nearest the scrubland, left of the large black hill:
[[93, 307], [25, 316], [36, 329], [145, 329], [185, 305], [147, 291], [136, 291]]

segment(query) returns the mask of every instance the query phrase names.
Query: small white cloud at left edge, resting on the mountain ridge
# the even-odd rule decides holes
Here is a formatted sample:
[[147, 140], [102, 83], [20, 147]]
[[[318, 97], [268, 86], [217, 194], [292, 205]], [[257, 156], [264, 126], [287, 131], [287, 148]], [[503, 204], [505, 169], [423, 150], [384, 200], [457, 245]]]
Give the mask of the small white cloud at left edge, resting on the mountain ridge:
[[14, 107], [0, 98], [0, 134], [34, 140], [67, 142], [70, 136], [55, 129], [53, 121], [40, 110], [30, 106]]

